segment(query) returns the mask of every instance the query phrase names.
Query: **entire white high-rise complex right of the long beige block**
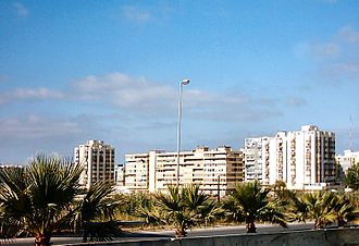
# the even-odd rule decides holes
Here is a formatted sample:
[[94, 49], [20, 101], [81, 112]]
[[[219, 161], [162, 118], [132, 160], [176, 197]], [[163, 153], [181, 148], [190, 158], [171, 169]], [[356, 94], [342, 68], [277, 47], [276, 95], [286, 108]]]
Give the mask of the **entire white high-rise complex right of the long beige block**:
[[274, 137], [245, 139], [245, 181], [283, 181], [290, 189], [321, 189], [335, 180], [335, 134], [305, 125]]

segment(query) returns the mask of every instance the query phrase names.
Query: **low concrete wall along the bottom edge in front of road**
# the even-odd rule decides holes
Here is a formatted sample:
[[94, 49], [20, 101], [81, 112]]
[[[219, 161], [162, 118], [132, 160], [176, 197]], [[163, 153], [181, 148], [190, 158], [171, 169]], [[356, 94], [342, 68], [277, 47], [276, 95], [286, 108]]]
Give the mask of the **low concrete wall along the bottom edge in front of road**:
[[284, 232], [273, 234], [246, 234], [202, 236], [182, 239], [137, 242], [107, 242], [76, 245], [111, 246], [359, 246], [359, 229], [327, 229], [319, 231]]

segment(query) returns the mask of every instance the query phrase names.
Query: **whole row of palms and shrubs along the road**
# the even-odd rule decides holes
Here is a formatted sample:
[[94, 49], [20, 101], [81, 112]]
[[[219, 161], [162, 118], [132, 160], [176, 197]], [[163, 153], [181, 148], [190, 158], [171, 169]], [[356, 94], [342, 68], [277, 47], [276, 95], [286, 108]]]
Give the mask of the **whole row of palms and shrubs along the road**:
[[145, 226], [170, 225], [177, 237], [196, 226], [244, 223], [256, 233], [256, 223], [286, 227], [289, 222], [313, 221], [314, 229], [356, 219], [358, 192], [300, 193], [283, 182], [264, 188], [258, 182], [238, 184], [220, 201], [198, 185], [169, 186], [164, 193], [114, 193], [110, 183], [89, 189], [79, 185], [83, 169], [59, 157], [36, 156], [25, 168], [0, 170], [0, 238], [35, 236], [36, 246], [48, 246], [54, 233], [83, 235], [83, 241], [121, 236], [121, 220], [140, 219]]

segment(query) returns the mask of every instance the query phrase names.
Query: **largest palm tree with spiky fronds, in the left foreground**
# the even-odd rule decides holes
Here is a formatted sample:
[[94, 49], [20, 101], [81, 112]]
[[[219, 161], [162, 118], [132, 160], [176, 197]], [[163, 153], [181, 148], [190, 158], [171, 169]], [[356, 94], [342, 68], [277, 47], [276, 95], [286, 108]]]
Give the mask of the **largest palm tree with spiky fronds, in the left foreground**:
[[8, 233], [27, 232], [35, 235], [36, 246], [50, 245], [52, 232], [67, 218], [79, 192], [81, 173], [79, 165], [45, 155], [24, 169], [1, 170], [0, 219], [11, 223]]

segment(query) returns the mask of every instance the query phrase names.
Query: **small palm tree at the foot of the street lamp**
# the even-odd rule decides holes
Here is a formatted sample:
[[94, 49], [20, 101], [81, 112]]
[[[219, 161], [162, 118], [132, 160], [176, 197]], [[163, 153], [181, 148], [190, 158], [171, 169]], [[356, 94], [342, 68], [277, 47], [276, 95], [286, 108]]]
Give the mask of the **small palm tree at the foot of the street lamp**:
[[176, 236], [186, 236], [186, 230], [199, 224], [202, 220], [201, 209], [206, 208], [208, 195], [199, 190], [199, 186], [189, 185], [182, 189], [169, 186], [169, 193], [154, 195], [158, 206], [164, 212], [164, 220], [176, 229]]

